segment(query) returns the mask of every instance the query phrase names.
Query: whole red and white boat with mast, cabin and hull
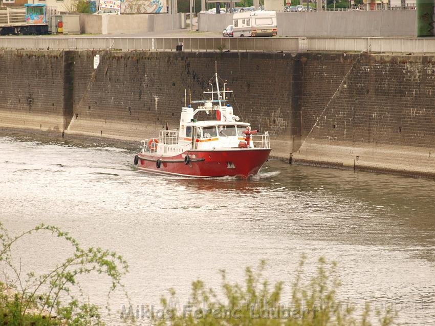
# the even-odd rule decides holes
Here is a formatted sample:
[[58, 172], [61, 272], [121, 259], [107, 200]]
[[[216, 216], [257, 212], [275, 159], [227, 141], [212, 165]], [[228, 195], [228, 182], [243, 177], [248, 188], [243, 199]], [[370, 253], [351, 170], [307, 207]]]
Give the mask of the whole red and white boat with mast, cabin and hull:
[[[209, 99], [182, 107], [180, 128], [160, 131], [159, 137], [141, 142], [135, 156], [138, 170], [184, 177], [237, 177], [246, 179], [258, 173], [270, 154], [269, 133], [259, 135], [249, 123], [240, 122], [233, 108], [225, 105], [232, 91], [221, 89], [214, 75]], [[216, 119], [198, 121], [200, 113], [213, 114]], [[204, 115], [204, 114], [202, 114]], [[214, 116], [214, 114], [213, 114]]]

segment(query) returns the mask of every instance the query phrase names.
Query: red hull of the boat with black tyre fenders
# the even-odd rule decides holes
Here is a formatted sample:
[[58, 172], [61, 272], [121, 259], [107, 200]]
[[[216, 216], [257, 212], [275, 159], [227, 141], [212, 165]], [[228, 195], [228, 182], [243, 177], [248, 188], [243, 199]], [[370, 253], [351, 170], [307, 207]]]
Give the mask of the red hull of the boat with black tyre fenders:
[[[189, 150], [172, 157], [138, 154], [141, 171], [185, 177], [238, 177], [246, 179], [258, 173], [269, 158], [270, 149]], [[185, 163], [188, 155], [190, 162]], [[160, 160], [160, 162], [157, 162]], [[171, 162], [174, 161], [174, 162]], [[160, 167], [157, 166], [160, 163]]]

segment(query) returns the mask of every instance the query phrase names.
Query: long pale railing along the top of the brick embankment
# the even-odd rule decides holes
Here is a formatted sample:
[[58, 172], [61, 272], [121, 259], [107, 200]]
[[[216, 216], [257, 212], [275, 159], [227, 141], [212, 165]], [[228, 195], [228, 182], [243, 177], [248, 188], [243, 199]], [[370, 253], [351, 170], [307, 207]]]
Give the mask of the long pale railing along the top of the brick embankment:
[[0, 49], [175, 52], [376, 52], [435, 53], [435, 38], [386, 37], [0, 37]]

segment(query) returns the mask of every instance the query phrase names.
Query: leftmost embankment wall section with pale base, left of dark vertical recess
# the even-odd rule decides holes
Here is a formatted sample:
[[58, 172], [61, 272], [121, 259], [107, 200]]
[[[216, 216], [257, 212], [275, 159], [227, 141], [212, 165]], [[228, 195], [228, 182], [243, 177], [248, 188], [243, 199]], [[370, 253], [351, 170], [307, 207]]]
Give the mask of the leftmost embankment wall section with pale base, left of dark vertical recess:
[[0, 51], [0, 123], [63, 129], [63, 53]]

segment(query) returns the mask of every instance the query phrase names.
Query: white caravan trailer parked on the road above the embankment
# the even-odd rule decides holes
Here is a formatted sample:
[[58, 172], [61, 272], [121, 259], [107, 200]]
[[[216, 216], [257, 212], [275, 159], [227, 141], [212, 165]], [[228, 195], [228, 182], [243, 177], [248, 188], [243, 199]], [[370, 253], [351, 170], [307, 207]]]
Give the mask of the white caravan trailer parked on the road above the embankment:
[[248, 11], [234, 13], [234, 37], [275, 36], [278, 32], [275, 11]]

